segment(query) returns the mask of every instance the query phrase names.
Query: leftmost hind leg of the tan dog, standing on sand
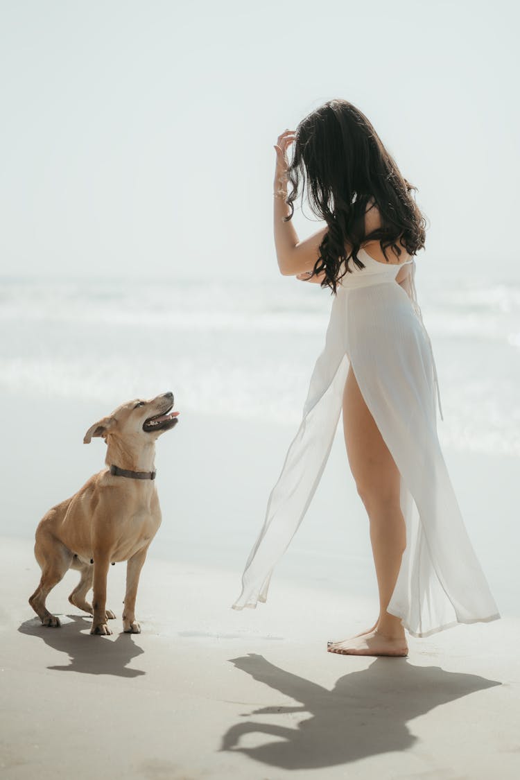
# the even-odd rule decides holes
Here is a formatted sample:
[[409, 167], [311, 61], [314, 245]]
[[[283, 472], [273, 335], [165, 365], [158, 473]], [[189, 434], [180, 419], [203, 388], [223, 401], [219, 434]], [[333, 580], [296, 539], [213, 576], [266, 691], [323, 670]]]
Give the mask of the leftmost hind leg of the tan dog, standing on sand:
[[63, 575], [69, 569], [73, 561], [73, 554], [65, 544], [58, 541], [46, 532], [37, 533], [34, 555], [41, 568], [41, 580], [34, 594], [29, 599], [29, 604], [41, 619], [44, 626], [57, 628], [59, 619], [51, 615], [45, 606], [45, 601], [52, 588], [63, 579]]

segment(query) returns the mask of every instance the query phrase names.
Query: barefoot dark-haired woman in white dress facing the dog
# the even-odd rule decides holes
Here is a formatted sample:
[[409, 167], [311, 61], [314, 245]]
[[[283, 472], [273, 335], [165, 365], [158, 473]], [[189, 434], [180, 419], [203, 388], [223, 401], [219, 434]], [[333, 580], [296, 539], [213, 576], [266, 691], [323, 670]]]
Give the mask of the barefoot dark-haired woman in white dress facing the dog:
[[[407, 655], [405, 629], [429, 636], [500, 617], [437, 438], [437, 372], [415, 289], [414, 255], [425, 243], [425, 221], [412, 198], [416, 188], [347, 101], [318, 108], [294, 133], [282, 133], [275, 149], [280, 271], [330, 287], [334, 302], [302, 424], [233, 606], [266, 600], [274, 565], [317, 488], [342, 409], [348, 463], [370, 520], [380, 612], [370, 629], [327, 649]], [[291, 218], [305, 186], [326, 225], [299, 241]]]

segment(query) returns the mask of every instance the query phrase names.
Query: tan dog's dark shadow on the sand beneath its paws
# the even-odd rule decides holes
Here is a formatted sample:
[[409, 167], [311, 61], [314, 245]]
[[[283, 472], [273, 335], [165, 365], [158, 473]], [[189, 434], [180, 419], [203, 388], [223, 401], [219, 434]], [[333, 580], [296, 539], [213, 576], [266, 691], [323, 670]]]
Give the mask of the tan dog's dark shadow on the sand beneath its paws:
[[48, 666], [49, 669], [117, 677], [139, 677], [146, 674], [141, 669], [128, 667], [133, 658], [144, 652], [143, 648], [135, 643], [133, 634], [121, 633], [115, 641], [101, 636], [85, 636], [83, 629], [90, 629], [92, 619], [80, 615], [66, 617], [68, 621], [60, 628], [42, 626], [37, 618], [33, 618], [23, 622], [18, 629], [27, 636], [37, 636], [53, 650], [69, 656], [68, 665]]

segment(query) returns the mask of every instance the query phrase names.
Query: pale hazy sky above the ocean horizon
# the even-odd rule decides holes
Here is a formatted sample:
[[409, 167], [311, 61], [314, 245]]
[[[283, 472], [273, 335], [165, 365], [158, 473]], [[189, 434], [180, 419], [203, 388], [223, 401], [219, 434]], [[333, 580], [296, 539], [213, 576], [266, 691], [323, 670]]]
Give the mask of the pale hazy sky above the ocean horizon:
[[518, 266], [513, 0], [0, 9], [3, 275], [274, 275], [273, 144], [331, 97], [419, 187], [431, 269]]

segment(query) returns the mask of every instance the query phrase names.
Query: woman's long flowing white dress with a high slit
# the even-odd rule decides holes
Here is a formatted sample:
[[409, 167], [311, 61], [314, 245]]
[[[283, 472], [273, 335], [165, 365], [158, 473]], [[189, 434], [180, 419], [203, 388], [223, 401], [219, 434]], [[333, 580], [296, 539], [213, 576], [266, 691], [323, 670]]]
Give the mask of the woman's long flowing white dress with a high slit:
[[[412, 636], [500, 618], [465, 529], [437, 437], [440, 394], [430, 337], [417, 303], [383, 264], [359, 250], [365, 268], [346, 274], [331, 308], [302, 423], [267, 503], [264, 526], [242, 576], [235, 609], [266, 601], [275, 564], [302, 522], [331, 452], [348, 367], [401, 474], [406, 548], [387, 612]], [[442, 418], [444, 419], [444, 418]]]

